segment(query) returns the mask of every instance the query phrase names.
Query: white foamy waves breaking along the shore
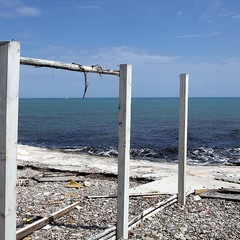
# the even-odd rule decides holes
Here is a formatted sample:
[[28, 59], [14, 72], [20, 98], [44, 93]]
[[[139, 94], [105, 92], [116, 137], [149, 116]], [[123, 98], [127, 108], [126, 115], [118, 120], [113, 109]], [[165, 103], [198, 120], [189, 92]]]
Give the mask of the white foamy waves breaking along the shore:
[[[116, 148], [101, 147], [82, 147], [82, 148], [64, 148], [63, 152], [85, 153], [94, 156], [117, 157], [118, 150]], [[142, 159], [150, 161], [178, 161], [178, 148], [167, 147], [162, 150], [153, 150], [150, 148], [131, 149], [130, 155], [132, 159]], [[188, 163], [198, 165], [240, 165], [240, 148], [211, 148], [199, 147], [189, 149], [187, 152]]]

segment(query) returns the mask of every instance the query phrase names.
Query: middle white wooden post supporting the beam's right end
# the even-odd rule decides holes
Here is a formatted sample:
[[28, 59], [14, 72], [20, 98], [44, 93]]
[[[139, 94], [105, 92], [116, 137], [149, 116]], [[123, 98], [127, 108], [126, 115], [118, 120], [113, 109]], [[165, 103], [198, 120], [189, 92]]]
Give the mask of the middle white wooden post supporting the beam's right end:
[[120, 65], [117, 239], [128, 239], [132, 66]]

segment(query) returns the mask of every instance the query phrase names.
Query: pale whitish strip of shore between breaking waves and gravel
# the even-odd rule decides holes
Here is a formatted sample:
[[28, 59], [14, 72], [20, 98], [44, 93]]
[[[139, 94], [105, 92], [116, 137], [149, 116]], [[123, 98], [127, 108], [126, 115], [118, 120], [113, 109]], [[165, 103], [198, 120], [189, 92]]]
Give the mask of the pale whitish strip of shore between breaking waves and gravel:
[[[81, 174], [117, 176], [117, 158], [66, 153], [47, 148], [18, 145], [18, 166], [32, 166]], [[177, 163], [130, 159], [130, 178], [157, 180], [176, 175]], [[240, 177], [238, 166], [187, 165], [187, 175], [213, 179], [219, 176]]]

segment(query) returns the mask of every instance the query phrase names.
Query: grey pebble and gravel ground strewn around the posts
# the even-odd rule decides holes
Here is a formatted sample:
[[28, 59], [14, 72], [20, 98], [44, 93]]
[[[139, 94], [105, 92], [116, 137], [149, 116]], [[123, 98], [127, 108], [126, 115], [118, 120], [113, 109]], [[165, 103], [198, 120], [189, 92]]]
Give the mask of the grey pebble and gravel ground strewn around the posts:
[[[68, 175], [30, 168], [18, 170], [17, 227], [31, 219], [45, 217], [76, 201], [81, 204], [26, 239], [87, 239], [116, 223], [116, 198], [89, 199], [87, 196], [114, 194], [117, 179], [100, 175], [81, 177], [83, 188], [67, 188], [67, 182], [37, 182], [35, 175]], [[72, 175], [69, 173], [69, 175]], [[27, 179], [26, 186], [24, 185]], [[22, 181], [20, 181], [22, 180]], [[144, 182], [131, 181], [130, 187]], [[168, 196], [130, 198], [129, 219]], [[186, 206], [177, 203], [163, 209], [130, 230], [129, 239], [240, 239], [240, 203], [187, 198]]]

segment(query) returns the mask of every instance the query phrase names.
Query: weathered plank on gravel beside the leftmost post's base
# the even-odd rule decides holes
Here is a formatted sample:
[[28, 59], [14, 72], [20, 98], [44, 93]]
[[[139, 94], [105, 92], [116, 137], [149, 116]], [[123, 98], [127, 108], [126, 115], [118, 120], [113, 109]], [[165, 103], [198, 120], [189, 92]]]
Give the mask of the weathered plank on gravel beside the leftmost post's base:
[[71, 210], [73, 210], [77, 205], [79, 205], [80, 202], [75, 202], [63, 209], [60, 209], [59, 211], [51, 214], [48, 217], [44, 217], [22, 229], [19, 229], [16, 233], [16, 239], [22, 239], [24, 237], [26, 237], [27, 235], [29, 235], [30, 233], [46, 226], [47, 224], [53, 222], [54, 220], [60, 218], [61, 216], [63, 216], [64, 214], [70, 212]]

